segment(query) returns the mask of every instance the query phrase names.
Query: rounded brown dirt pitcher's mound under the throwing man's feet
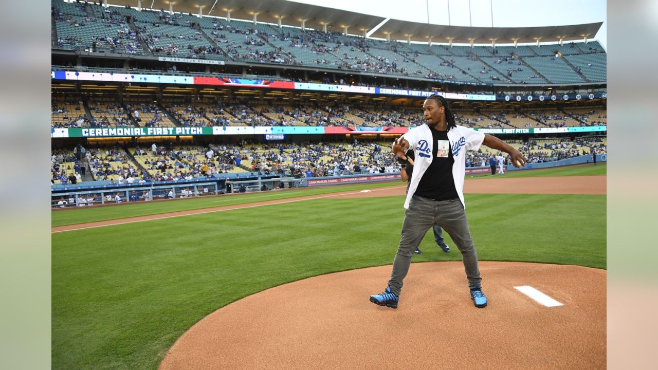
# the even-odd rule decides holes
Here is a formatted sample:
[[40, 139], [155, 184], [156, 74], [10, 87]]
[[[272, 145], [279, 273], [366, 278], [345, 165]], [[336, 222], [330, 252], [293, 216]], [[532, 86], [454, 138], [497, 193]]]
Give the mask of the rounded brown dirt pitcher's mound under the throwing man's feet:
[[397, 309], [368, 302], [390, 266], [277, 286], [199, 321], [160, 369], [605, 369], [605, 270], [487, 261], [480, 270], [482, 309], [461, 261], [413, 263]]

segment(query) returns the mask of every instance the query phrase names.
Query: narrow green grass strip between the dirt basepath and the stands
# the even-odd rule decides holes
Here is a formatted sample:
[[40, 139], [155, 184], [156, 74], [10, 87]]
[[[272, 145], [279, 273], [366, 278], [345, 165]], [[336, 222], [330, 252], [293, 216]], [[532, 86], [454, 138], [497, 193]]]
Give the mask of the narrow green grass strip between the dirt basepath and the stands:
[[[526, 177], [526, 176], [586, 176], [605, 174], [605, 163], [601, 165], [584, 165], [573, 167], [560, 167], [556, 169], [542, 169], [530, 171], [510, 171], [503, 176], [490, 176], [486, 174], [467, 176], [480, 178], [490, 176], [492, 178], [509, 178], [509, 177]], [[203, 209], [209, 207], [219, 207], [222, 205], [236, 205], [251, 203], [253, 201], [268, 201], [273, 199], [295, 198], [300, 196], [311, 196], [318, 194], [328, 194], [332, 192], [343, 192], [349, 190], [363, 190], [379, 188], [382, 186], [394, 186], [401, 184], [395, 182], [376, 182], [370, 184], [355, 184], [343, 186], [324, 186], [322, 188], [306, 188], [300, 190], [286, 190], [277, 192], [253, 193], [253, 194], [236, 194], [231, 196], [180, 199], [176, 201], [153, 201], [150, 203], [124, 204], [112, 207], [88, 207], [74, 208], [59, 211], [53, 211], [52, 226], [74, 225], [78, 223], [91, 223], [95, 221], [107, 221], [113, 219], [122, 219], [125, 217], [136, 217], [155, 215], [158, 213], [168, 213], [176, 211], [189, 211], [191, 209]]]

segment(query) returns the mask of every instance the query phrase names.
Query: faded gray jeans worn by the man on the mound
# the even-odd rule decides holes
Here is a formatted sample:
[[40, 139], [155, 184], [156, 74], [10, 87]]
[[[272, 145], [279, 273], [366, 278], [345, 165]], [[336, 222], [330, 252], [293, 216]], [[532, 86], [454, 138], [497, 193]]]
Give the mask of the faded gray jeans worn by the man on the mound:
[[409, 209], [405, 212], [402, 237], [393, 260], [391, 280], [388, 281], [388, 286], [391, 287], [393, 293], [400, 294], [402, 280], [409, 272], [411, 256], [420, 245], [427, 230], [434, 225], [440, 225], [457, 244], [466, 270], [468, 287], [480, 286], [482, 278], [480, 269], [478, 269], [478, 253], [476, 253], [473, 239], [470, 237], [468, 220], [459, 198], [434, 201], [413, 196]]

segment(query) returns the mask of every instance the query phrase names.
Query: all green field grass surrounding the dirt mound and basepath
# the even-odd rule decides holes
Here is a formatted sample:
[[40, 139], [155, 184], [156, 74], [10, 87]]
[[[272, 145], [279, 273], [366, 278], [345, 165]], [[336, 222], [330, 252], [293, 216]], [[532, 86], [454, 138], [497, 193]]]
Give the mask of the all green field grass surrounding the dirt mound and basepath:
[[[511, 172], [499, 176], [503, 179], [476, 176], [472, 181], [495, 184], [538, 177], [548, 182], [555, 176], [605, 173], [601, 164]], [[53, 369], [156, 369], [186, 330], [220, 307], [316, 275], [390, 265], [404, 198], [358, 196], [362, 190], [377, 194], [389, 188], [403, 189], [403, 184], [53, 211]], [[337, 192], [357, 196], [332, 196]], [[469, 193], [466, 203], [482, 261], [606, 267], [605, 195]], [[224, 208], [121, 223], [128, 217], [211, 207]], [[105, 221], [118, 225], [59, 229]], [[446, 242], [454, 246], [447, 235]], [[430, 233], [420, 248], [430, 251], [433, 244]], [[461, 261], [456, 248], [413, 258]], [[385, 284], [373, 286], [371, 293]]]

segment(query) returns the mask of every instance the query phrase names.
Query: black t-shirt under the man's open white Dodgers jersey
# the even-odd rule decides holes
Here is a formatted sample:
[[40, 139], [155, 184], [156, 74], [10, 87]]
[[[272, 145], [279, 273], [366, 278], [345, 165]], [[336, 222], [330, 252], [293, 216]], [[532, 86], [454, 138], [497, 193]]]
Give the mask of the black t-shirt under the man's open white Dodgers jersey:
[[[452, 155], [452, 148], [448, 142], [448, 132], [434, 130], [430, 127], [432, 132], [433, 149], [432, 149], [432, 163], [430, 167], [422, 174], [418, 188], [414, 193], [417, 196], [430, 198], [435, 200], [447, 200], [459, 198], [457, 190], [455, 189], [455, 181], [452, 176], [452, 167], [455, 159]], [[437, 157], [439, 140], [448, 142], [448, 157]]]

